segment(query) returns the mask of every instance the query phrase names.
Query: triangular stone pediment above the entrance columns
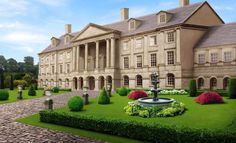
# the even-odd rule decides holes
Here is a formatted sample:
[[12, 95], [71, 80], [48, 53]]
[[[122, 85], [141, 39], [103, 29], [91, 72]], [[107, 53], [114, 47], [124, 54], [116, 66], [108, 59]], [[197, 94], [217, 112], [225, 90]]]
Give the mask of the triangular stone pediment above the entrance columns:
[[77, 41], [77, 40], [82, 40], [89, 37], [99, 36], [99, 35], [103, 35], [112, 31], [113, 31], [112, 29], [90, 23], [74, 38], [74, 40]]

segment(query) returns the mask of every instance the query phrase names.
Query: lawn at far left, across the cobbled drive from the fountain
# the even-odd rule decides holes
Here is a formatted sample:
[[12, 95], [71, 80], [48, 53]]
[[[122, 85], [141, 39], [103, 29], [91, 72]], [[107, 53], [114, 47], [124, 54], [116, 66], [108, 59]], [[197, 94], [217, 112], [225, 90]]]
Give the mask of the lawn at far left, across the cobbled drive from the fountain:
[[[18, 90], [8, 90], [9, 92], [9, 99], [5, 100], [5, 101], [0, 101], [0, 104], [4, 104], [4, 103], [11, 103], [11, 102], [16, 102], [16, 101], [20, 101], [17, 99], [18, 96]], [[28, 90], [23, 90], [23, 100], [27, 100], [27, 99], [34, 99], [34, 98], [39, 98], [43, 96], [43, 90], [37, 90], [36, 91], [36, 96], [28, 96]], [[62, 94], [65, 93], [65, 91], [60, 91], [59, 93], [53, 93], [53, 95], [57, 95], [57, 94]]]

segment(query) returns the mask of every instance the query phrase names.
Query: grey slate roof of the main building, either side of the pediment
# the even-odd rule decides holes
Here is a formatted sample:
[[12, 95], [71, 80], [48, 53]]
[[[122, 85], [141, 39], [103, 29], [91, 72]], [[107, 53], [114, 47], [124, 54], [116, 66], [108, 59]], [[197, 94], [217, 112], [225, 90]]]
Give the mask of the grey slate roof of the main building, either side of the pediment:
[[[128, 20], [115, 22], [112, 24], [103, 25], [103, 27], [114, 29], [121, 32], [121, 36], [129, 36], [133, 34], [138, 34], [146, 31], [155, 30], [157, 28], [163, 28], [168, 27], [176, 24], [182, 24], [185, 22], [187, 18], [189, 18], [199, 7], [201, 7], [204, 4], [204, 2], [201, 3], [195, 3], [192, 5], [188, 5], [185, 7], [179, 7], [171, 10], [167, 10], [166, 12], [172, 13], [173, 16], [169, 22], [166, 24], [157, 24], [157, 17], [156, 14], [153, 13], [142, 17], [136, 17], [135, 19], [141, 20], [141, 25], [133, 31], [128, 30]], [[71, 33], [73, 36], [76, 36], [80, 33], [80, 31]], [[49, 45], [46, 49], [44, 49], [41, 53], [51, 52], [54, 50], [60, 50], [71, 47], [73, 44], [68, 43], [64, 44], [64, 35], [62, 35], [60, 38], [60, 43], [56, 47], [52, 47]]]

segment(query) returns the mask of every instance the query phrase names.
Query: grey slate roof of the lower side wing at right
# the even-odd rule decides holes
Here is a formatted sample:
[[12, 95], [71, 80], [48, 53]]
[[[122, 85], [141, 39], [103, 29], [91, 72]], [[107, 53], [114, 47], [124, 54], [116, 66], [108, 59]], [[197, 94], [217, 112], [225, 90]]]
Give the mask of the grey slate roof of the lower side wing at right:
[[202, 37], [197, 48], [236, 44], [236, 23], [214, 26]]

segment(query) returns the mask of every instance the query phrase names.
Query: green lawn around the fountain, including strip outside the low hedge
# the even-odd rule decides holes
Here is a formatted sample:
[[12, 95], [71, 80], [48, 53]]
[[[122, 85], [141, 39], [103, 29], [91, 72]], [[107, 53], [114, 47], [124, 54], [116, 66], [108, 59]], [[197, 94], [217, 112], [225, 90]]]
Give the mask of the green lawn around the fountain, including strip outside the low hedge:
[[[200, 105], [194, 102], [194, 97], [183, 95], [163, 97], [174, 98], [185, 103], [187, 111], [181, 116], [169, 118], [141, 118], [137, 116], [128, 116], [124, 113], [123, 107], [126, 106], [130, 100], [126, 96], [121, 97], [118, 95], [113, 96], [111, 98], [112, 103], [108, 105], [99, 105], [97, 104], [97, 99], [93, 99], [91, 100], [90, 104], [86, 105], [84, 110], [81, 112], [70, 112], [68, 107], [60, 108], [55, 111], [70, 112], [70, 114], [75, 115], [83, 114], [112, 119], [137, 121], [147, 124], [160, 123], [163, 125], [175, 125], [180, 127], [185, 126], [190, 128], [210, 129], [215, 131], [225, 129], [236, 130], [236, 100], [224, 98], [224, 104]], [[110, 135], [106, 135], [109, 138], [108, 139], [106, 138], [106, 136], [100, 133], [41, 123], [39, 122], [38, 114], [20, 119], [18, 121], [26, 124], [40, 126], [43, 128], [57, 129], [72, 134], [79, 134], [82, 136], [88, 136], [110, 142], [117, 142], [118, 139], [118, 137]], [[119, 139], [119, 142], [122, 141]]]

